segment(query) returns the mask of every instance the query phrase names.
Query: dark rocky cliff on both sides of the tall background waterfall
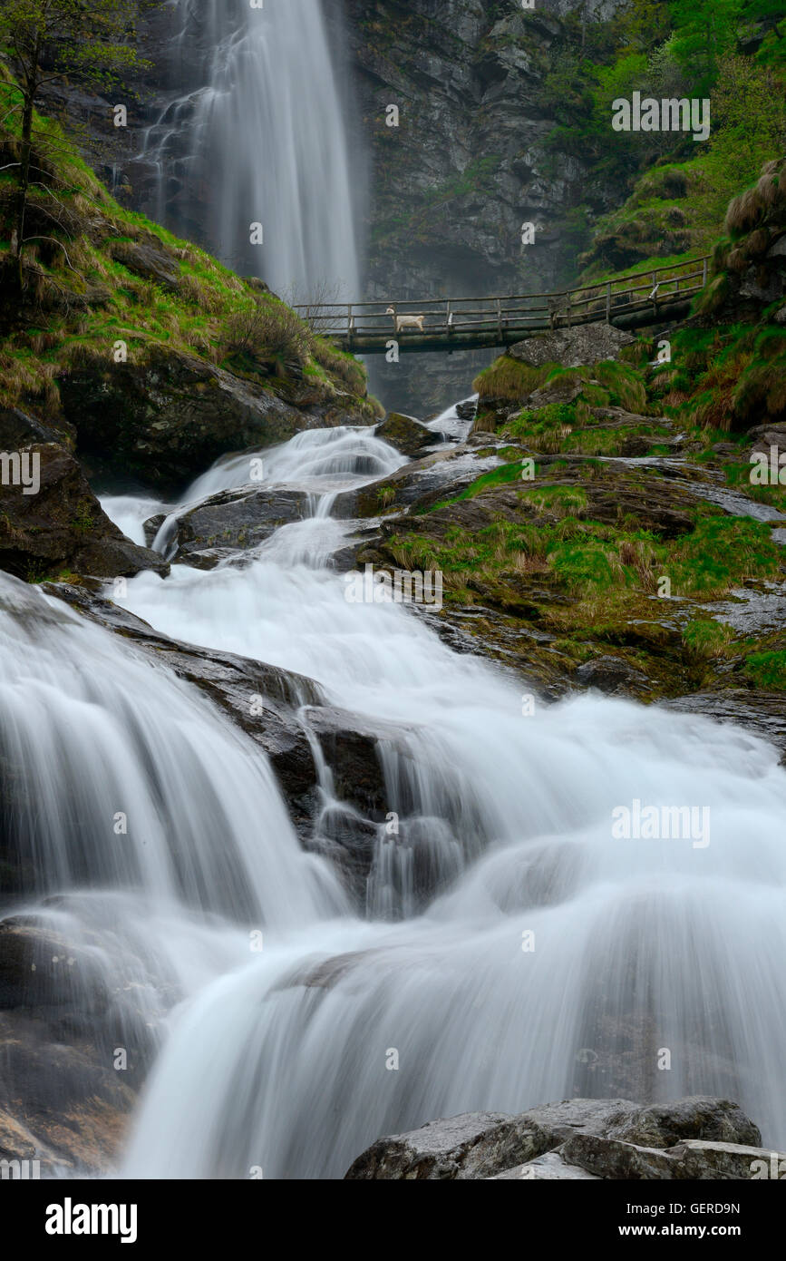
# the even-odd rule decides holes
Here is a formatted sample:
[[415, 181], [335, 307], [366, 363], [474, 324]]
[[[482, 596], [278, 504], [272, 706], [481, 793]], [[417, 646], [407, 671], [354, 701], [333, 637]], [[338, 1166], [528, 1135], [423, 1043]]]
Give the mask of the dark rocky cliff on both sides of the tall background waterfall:
[[[339, 52], [350, 68], [359, 180], [370, 155], [363, 296], [543, 291], [572, 279], [586, 243], [578, 206], [601, 214], [620, 192], [549, 148], [554, 117], [544, 82], [566, 18], [605, 20], [618, 3], [535, 0], [525, 10], [514, 0], [326, 0], [334, 40], [349, 42]], [[53, 105], [84, 125], [98, 173], [127, 204], [215, 248], [209, 190], [184, 160], [189, 100], [204, 88], [207, 50], [196, 44], [184, 55], [176, 26], [168, 4], [140, 25], [152, 66], [127, 84], [137, 100], [126, 129], [112, 126], [113, 102], [77, 90], [59, 92]], [[164, 137], [160, 166], [154, 153]], [[533, 243], [521, 241], [524, 223], [534, 226]], [[426, 414], [467, 393], [490, 358], [472, 352], [388, 364], [377, 357], [372, 385], [388, 406]]]

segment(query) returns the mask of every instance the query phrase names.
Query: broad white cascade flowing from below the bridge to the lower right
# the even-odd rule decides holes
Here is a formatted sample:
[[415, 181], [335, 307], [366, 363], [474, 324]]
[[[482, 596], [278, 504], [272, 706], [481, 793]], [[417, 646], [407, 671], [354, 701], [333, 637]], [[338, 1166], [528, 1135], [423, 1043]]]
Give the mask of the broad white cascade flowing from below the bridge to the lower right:
[[[311, 516], [237, 564], [140, 574], [120, 603], [176, 638], [306, 673], [333, 704], [384, 725], [379, 757], [401, 835], [377, 842], [363, 915], [340, 904], [322, 859], [299, 859], [271, 802], [256, 861], [278, 873], [297, 927], [291, 914], [278, 923], [277, 893], [263, 952], [234, 953], [223, 968], [214, 957], [203, 984], [184, 987], [125, 1171], [341, 1177], [383, 1134], [572, 1095], [719, 1095], [782, 1146], [786, 776], [775, 749], [704, 718], [597, 695], [537, 701], [533, 712], [520, 683], [452, 652], [426, 618], [345, 599], [330, 556], [353, 523], [326, 506], [338, 485], [368, 482], [401, 456], [368, 430], [311, 431], [259, 455], [270, 485], [307, 487]], [[242, 469], [219, 463], [175, 513], [195, 489], [238, 484]], [[126, 520], [140, 511], [122, 507]], [[98, 643], [100, 632], [89, 638]], [[120, 653], [107, 637], [102, 651]], [[265, 801], [272, 792], [263, 759], [254, 749], [257, 770], [247, 769], [259, 787], [231, 788], [219, 759], [225, 747], [246, 767], [241, 736], [183, 685], [175, 705], [166, 675], [139, 670], [147, 682], [136, 691], [152, 706], [160, 690], [170, 728], [184, 705], [199, 710], [175, 752], [157, 710], [125, 702], [135, 739], [168, 747], [168, 782], [208, 768], [213, 813], [223, 806], [214, 897], [225, 881], [237, 902], [233, 880], [257, 849], [252, 828], [248, 852], [248, 794], [262, 783]], [[110, 691], [101, 704], [120, 701]], [[72, 758], [92, 739], [84, 726]], [[77, 782], [86, 773], [71, 768]], [[709, 844], [618, 839], [612, 812], [635, 801], [708, 807]], [[108, 808], [101, 802], [102, 818]], [[213, 831], [202, 813], [183, 832]], [[205, 934], [228, 931], [199, 923]], [[664, 1049], [668, 1071], [658, 1067]]]

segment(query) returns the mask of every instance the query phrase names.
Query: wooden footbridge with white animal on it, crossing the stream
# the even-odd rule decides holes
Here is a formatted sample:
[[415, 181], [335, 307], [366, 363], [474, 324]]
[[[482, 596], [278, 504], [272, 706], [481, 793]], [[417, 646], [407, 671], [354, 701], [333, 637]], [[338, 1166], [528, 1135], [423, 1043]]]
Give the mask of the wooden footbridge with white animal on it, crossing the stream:
[[[707, 285], [709, 257], [636, 271], [555, 294], [302, 304], [309, 325], [354, 354], [477, 351], [578, 324], [645, 328], [686, 315]], [[392, 310], [390, 310], [392, 309]]]

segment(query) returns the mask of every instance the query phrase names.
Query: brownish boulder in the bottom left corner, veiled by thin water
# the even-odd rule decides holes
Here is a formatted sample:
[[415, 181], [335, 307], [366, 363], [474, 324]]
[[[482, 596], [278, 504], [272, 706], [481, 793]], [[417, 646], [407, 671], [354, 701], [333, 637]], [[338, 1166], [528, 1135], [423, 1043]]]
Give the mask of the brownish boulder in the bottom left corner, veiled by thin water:
[[117, 966], [106, 939], [72, 939], [68, 923], [68, 895], [0, 923], [0, 1159], [11, 1178], [39, 1175], [14, 1165], [24, 1160], [40, 1177], [111, 1173], [157, 1042], [152, 1011], [123, 984], [127, 955]]

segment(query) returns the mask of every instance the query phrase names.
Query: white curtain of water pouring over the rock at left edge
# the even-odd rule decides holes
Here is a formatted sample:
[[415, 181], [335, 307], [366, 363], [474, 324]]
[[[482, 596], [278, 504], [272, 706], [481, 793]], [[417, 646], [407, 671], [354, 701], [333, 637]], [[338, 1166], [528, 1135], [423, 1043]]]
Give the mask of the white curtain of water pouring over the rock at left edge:
[[346, 909], [228, 720], [8, 575], [0, 803], [1, 910], [63, 943], [57, 1001], [101, 1013], [91, 1040], [107, 1067], [118, 1045], [145, 1059], [173, 1002], [241, 966], [249, 933]]

